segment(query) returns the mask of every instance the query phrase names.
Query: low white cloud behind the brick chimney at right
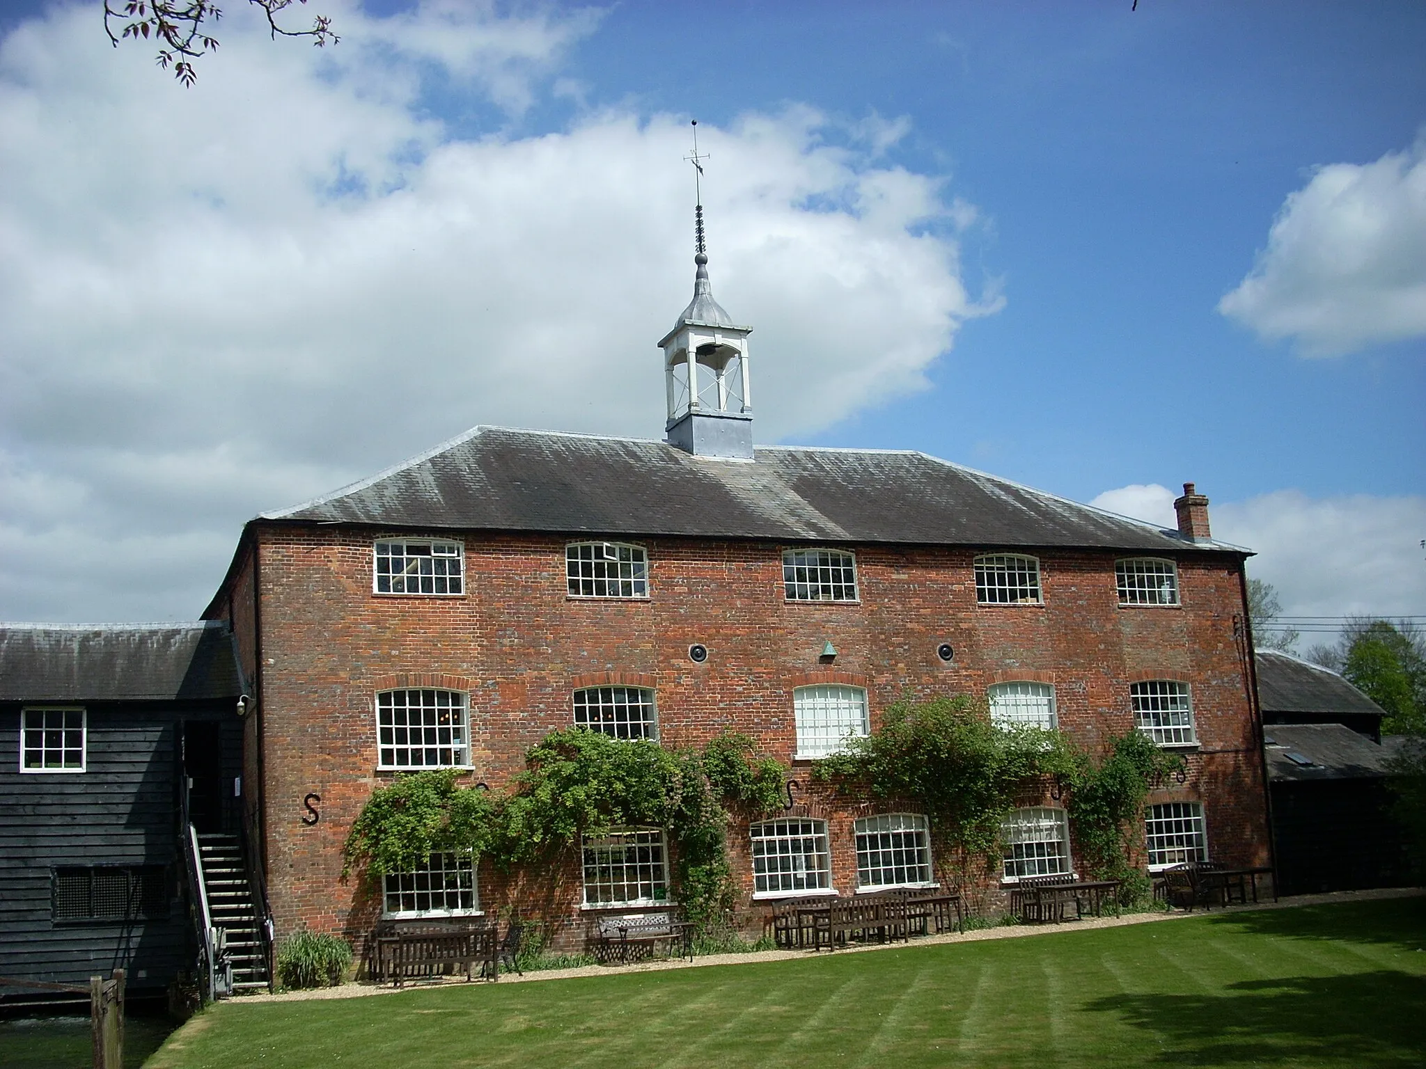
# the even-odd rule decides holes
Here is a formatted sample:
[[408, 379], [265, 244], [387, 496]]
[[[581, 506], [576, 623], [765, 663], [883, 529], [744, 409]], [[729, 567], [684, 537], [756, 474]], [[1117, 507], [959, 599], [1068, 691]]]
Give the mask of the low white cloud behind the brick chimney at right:
[[[1176, 495], [1156, 483], [1091, 505], [1174, 527]], [[1214, 536], [1258, 556], [1248, 572], [1278, 589], [1285, 616], [1426, 613], [1426, 497], [1308, 497], [1276, 490], [1211, 506]]]

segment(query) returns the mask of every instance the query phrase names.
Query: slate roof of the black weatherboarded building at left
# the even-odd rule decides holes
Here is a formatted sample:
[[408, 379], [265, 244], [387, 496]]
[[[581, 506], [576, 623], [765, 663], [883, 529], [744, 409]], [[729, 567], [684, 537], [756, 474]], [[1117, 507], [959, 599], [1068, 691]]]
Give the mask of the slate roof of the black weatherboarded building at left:
[[0, 624], [0, 701], [237, 698], [227, 624]]

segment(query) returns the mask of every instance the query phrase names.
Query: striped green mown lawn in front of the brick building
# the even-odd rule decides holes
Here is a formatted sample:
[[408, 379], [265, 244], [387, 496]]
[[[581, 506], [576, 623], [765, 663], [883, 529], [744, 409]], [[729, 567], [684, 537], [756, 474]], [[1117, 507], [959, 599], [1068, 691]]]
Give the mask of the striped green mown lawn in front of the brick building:
[[328, 1002], [228, 1002], [147, 1063], [1422, 1066], [1426, 899]]

